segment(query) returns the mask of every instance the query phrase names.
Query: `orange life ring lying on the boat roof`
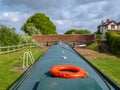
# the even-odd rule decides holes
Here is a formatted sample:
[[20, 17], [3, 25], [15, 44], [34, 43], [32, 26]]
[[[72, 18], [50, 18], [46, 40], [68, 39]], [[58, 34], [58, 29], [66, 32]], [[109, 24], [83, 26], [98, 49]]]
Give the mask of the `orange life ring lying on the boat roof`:
[[84, 78], [87, 72], [78, 66], [57, 65], [50, 69], [52, 76], [59, 78]]

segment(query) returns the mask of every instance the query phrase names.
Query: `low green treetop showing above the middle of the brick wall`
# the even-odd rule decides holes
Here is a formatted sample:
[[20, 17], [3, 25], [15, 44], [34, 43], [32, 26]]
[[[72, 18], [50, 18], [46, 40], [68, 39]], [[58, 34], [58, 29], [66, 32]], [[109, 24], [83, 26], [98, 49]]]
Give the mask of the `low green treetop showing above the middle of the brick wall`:
[[64, 34], [90, 34], [90, 31], [71, 29], [71, 30], [66, 31]]

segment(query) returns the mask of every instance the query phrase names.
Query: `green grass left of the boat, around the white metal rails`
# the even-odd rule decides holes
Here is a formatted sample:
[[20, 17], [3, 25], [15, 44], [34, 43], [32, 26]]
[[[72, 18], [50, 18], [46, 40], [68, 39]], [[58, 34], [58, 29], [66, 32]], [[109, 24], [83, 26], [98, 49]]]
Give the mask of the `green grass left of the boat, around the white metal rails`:
[[19, 57], [22, 57], [26, 51], [31, 51], [35, 60], [38, 60], [45, 50], [37, 47], [0, 55], [0, 90], [8, 89], [23, 73], [23, 71], [14, 71], [12, 69], [14, 67], [22, 67], [22, 60], [19, 60]]

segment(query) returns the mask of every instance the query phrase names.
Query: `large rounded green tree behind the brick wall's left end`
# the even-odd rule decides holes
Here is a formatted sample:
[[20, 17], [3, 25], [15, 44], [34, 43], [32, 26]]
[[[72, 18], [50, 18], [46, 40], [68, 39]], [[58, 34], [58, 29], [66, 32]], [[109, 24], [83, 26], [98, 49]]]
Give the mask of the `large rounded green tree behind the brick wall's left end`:
[[29, 17], [26, 23], [21, 27], [29, 35], [34, 34], [57, 34], [56, 26], [45, 14], [36, 13]]

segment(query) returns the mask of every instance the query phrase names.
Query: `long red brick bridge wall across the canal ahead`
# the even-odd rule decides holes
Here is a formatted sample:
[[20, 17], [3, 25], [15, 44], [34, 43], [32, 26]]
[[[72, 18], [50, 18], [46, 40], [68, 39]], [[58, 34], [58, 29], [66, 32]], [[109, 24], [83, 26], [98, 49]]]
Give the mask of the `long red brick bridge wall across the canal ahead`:
[[54, 42], [69, 42], [74, 44], [90, 43], [95, 39], [94, 34], [90, 35], [35, 35], [33, 39], [39, 44], [53, 44]]

